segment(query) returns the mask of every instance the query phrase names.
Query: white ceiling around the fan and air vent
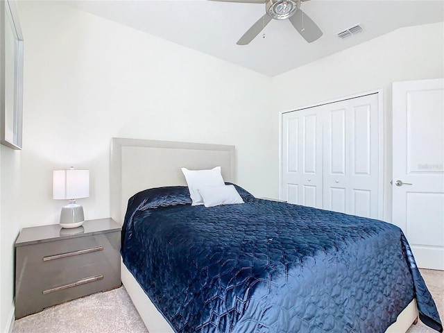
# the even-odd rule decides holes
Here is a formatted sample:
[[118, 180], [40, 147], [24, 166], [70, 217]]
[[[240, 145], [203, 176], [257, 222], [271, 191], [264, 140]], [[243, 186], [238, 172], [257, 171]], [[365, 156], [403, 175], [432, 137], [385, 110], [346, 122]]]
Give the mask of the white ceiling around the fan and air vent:
[[[311, 0], [301, 9], [323, 36], [307, 43], [288, 20], [272, 20], [246, 46], [237, 40], [265, 12], [263, 4], [205, 0], [86, 0], [71, 6], [216, 58], [276, 76], [404, 26], [444, 21], [443, 0]], [[360, 24], [345, 39], [336, 33]], [[442, 33], [442, 32], [441, 32]]]

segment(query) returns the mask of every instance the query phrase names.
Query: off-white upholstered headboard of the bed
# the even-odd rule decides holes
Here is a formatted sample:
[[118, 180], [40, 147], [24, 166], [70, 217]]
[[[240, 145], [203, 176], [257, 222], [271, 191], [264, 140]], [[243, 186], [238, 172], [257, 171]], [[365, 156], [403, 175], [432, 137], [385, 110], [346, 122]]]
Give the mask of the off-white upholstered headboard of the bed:
[[221, 167], [234, 182], [234, 146], [113, 138], [111, 144], [111, 217], [123, 223], [128, 199], [152, 187], [187, 185], [180, 170]]

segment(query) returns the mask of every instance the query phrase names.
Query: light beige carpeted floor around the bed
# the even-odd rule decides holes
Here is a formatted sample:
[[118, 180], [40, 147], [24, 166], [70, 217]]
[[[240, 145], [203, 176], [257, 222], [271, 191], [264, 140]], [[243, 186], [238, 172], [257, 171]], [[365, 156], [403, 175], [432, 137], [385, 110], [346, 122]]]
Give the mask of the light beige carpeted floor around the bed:
[[[444, 319], [444, 271], [421, 270]], [[15, 321], [12, 333], [146, 333], [125, 288], [72, 300]], [[435, 332], [418, 323], [408, 333]]]

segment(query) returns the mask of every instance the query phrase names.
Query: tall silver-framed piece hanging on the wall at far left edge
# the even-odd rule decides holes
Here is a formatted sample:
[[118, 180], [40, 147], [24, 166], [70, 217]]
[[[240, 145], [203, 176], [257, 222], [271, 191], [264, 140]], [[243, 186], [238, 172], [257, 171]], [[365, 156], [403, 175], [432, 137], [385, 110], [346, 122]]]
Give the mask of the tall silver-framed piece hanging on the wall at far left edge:
[[0, 1], [1, 144], [22, 149], [23, 35], [14, 0]]

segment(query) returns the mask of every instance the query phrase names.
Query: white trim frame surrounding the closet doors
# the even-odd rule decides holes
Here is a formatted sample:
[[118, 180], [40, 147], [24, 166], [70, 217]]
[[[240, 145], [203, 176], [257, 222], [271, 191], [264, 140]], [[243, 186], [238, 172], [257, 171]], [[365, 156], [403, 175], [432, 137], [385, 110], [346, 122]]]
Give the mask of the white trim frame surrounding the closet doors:
[[[377, 94], [377, 103], [378, 103], [378, 173], [379, 173], [379, 179], [378, 179], [378, 185], [377, 185], [377, 196], [378, 196], [378, 203], [377, 203], [377, 210], [378, 210], [378, 219], [382, 220], [384, 218], [384, 181], [386, 178], [386, 174], [384, 173], [384, 96], [383, 96], [383, 89], [372, 89], [368, 90], [366, 92], [360, 92], [357, 94], [352, 94], [348, 96], [342, 96], [338, 97], [336, 99], [330, 99], [327, 101], [321, 101], [318, 103], [313, 103], [309, 105], [299, 106], [298, 108], [294, 108], [293, 110], [285, 110], [279, 112], [279, 199], [282, 200], [282, 116], [285, 113], [289, 112], [295, 112], [300, 110], [305, 110], [309, 108], [315, 108], [321, 105], [326, 104], [332, 104], [336, 102], [345, 101], [348, 99], [357, 99], [362, 96], [367, 96], [371, 94]], [[391, 177], [391, 176], [390, 176]], [[390, 178], [391, 179], [391, 178]]]

